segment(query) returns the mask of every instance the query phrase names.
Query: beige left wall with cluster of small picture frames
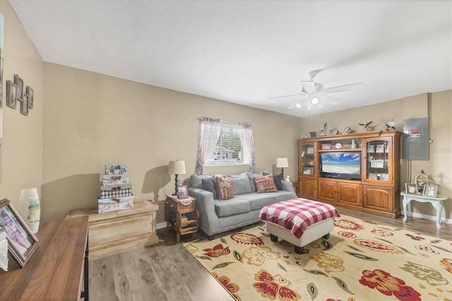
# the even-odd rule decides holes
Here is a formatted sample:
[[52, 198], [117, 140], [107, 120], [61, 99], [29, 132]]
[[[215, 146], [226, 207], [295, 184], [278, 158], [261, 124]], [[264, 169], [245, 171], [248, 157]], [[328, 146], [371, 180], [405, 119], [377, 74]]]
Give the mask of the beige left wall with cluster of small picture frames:
[[20, 189], [42, 184], [42, 100], [44, 64], [28, 39], [10, 4], [0, 0], [4, 15], [4, 98], [6, 81], [14, 74], [23, 78], [25, 86], [34, 90], [34, 107], [28, 116], [4, 104], [3, 138], [1, 138], [0, 199], [9, 199], [18, 208]]

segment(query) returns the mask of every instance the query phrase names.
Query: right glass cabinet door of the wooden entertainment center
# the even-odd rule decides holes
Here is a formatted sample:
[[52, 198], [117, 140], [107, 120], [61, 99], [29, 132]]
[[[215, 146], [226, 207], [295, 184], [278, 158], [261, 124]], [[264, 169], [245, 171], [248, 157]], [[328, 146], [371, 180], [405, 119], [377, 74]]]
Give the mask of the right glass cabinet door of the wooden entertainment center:
[[363, 180], [393, 182], [391, 138], [379, 138], [365, 141]]

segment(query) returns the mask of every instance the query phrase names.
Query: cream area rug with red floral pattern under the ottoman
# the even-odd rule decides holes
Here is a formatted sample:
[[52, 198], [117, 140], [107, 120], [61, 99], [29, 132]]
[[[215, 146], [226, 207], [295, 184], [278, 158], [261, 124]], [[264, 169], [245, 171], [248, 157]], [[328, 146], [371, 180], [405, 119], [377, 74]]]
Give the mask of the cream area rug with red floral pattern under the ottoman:
[[265, 224], [184, 244], [236, 300], [452, 300], [452, 242], [342, 216], [295, 253]]

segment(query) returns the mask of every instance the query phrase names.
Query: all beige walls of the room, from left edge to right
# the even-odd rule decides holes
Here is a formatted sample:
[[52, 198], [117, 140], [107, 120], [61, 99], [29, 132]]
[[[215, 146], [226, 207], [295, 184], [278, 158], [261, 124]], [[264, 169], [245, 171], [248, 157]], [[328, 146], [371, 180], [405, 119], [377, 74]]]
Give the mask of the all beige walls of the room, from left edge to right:
[[[297, 138], [328, 122], [340, 131], [372, 120], [384, 129], [394, 119], [430, 117], [431, 160], [413, 161], [412, 177], [424, 169], [452, 196], [451, 90], [393, 100], [331, 114], [298, 119], [209, 98], [157, 88], [43, 63], [8, 1], [0, 0], [5, 18], [4, 79], [20, 74], [35, 91], [35, 107], [28, 117], [3, 108], [0, 198], [17, 206], [20, 189], [37, 187], [44, 221], [64, 218], [73, 208], [97, 205], [105, 164], [127, 164], [135, 199], [153, 199], [160, 205], [172, 192], [174, 176], [167, 175], [169, 160], [185, 160], [187, 175], [194, 171], [198, 117], [254, 125], [256, 171], [272, 170], [280, 156], [289, 158], [285, 174], [297, 175]], [[5, 84], [4, 81], [4, 84]], [[43, 109], [44, 108], [44, 109]], [[423, 116], [412, 116], [422, 112]], [[328, 129], [328, 130], [329, 130]], [[403, 165], [403, 179], [408, 177]], [[206, 173], [246, 171], [246, 167], [207, 167]], [[184, 177], [184, 175], [182, 175]], [[430, 206], [415, 210], [433, 215]], [[451, 202], [446, 217], [451, 218]]]

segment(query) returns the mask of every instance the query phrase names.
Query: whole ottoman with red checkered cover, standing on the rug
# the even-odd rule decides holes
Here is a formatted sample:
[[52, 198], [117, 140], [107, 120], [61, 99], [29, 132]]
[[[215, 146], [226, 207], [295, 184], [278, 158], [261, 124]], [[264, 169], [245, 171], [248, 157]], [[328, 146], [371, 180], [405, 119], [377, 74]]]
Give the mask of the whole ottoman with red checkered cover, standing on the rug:
[[278, 237], [295, 246], [297, 254], [320, 237], [328, 239], [333, 220], [340, 220], [334, 206], [309, 199], [290, 199], [262, 208], [259, 218], [266, 223], [272, 242]]

